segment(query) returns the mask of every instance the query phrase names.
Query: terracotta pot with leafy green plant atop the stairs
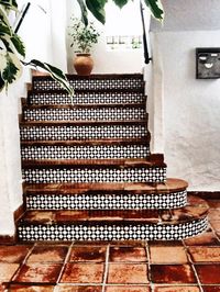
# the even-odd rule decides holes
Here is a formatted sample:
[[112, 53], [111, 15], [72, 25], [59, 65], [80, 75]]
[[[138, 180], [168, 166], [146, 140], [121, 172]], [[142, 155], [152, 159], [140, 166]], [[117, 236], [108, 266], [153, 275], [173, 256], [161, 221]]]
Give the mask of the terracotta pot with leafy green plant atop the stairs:
[[86, 25], [77, 18], [72, 18], [72, 22], [73, 24], [69, 26], [72, 31], [69, 35], [73, 38], [70, 46], [75, 47], [76, 53], [74, 67], [78, 75], [88, 76], [94, 68], [90, 49], [94, 44], [98, 43], [99, 33], [92, 22], [88, 22]]

